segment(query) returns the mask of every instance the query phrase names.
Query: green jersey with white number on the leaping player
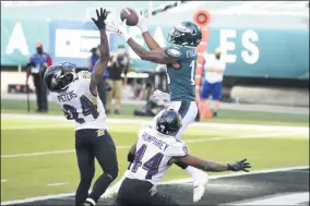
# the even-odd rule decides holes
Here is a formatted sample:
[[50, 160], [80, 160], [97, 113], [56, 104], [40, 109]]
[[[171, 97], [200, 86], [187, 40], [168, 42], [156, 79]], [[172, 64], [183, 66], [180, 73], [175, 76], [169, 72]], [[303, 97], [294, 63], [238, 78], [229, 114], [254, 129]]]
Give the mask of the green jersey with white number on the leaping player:
[[170, 100], [194, 100], [198, 58], [195, 48], [174, 45], [166, 48], [165, 53], [180, 64], [178, 69], [172, 65], [167, 65], [167, 82]]

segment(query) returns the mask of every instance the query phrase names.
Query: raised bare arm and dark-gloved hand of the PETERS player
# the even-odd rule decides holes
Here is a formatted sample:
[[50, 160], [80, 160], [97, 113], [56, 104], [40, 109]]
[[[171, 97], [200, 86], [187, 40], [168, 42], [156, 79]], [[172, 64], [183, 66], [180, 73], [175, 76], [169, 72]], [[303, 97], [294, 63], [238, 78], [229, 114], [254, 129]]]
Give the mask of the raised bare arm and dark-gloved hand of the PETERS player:
[[99, 45], [99, 51], [100, 51], [100, 58], [97, 60], [96, 64], [94, 65], [94, 72], [92, 73], [92, 80], [91, 80], [91, 92], [93, 95], [97, 95], [97, 85], [103, 80], [103, 74], [107, 68], [107, 64], [110, 60], [110, 52], [109, 52], [109, 43], [108, 37], [106, 33], [106, 24], [105, 20], [107, 19], [107, 12], [106, 10], [103, 11], [100, 8], [100, 14], [98, 10], [96, 10], [98, 20], [94, 20], [94, 23], [98, 27], [100, 32], [100, 45]]

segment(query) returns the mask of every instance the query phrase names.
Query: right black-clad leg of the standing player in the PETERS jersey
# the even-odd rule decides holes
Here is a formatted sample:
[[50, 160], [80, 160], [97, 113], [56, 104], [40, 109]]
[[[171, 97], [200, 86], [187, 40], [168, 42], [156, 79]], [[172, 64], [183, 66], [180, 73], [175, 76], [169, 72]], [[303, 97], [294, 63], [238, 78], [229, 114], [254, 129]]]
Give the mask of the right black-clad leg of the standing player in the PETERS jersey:
[[105, 193], [110, 183], [118, 175], [118, 161], [116, 154], [116, 146], [110, 134], [105, 131], [104, 134], [97, 133], [93, 137], [94, 155], [99, 162], [103, 174], [96, 180], [93, 191], [90, 194], [87, 202], [93, 205], [97, 203], [99, 197]]

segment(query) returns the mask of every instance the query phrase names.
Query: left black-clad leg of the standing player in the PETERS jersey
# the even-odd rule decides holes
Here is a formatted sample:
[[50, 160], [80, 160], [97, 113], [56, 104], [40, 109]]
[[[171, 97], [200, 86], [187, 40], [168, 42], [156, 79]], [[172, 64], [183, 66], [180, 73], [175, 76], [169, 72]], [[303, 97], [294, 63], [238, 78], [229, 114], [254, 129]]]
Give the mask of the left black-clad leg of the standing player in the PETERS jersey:
[[86, 130], [75, 132], [75, 152], [80, 169], [80, 183], [75, 193], [75, 205], [81, 206], [87, 198], [95, 175], [95, 157], [87, 147]]

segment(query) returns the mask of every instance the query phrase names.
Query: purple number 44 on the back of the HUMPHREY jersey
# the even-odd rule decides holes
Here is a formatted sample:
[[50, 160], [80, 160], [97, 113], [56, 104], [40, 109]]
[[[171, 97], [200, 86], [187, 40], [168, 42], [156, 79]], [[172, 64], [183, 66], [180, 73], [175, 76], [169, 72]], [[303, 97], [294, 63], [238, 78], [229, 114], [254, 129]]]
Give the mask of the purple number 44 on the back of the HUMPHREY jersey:
[[[146, 148], [147, 148], [146, 145], [142, 145], [135, 153], [135, 158], [133, 161], [133, 166], [131, 168], [132, 172], [136, 172], [138, 169], [142, 166], [141, 160], [144, 156]], [[147, 170], [145, 179], [152, 179], [152, 175], [158, 172], [158, 167], [160, 165], [163, 157], [164, 155], [162, 153], [157, 153], [152, 158], [150, 158], [145, 163], [143, 163], [142, 168]]]

